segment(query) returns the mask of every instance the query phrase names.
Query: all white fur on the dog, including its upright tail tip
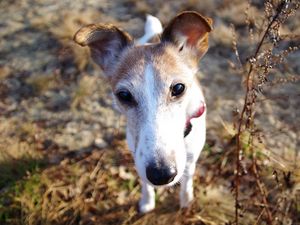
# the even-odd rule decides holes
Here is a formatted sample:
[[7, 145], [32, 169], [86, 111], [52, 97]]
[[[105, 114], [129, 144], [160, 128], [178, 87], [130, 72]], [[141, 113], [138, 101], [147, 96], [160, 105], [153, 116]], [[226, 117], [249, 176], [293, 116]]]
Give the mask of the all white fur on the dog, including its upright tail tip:
[[[161, 23], [157, 20], [147, 17], [145, 35], [139, 40], [139, 44], [145, 44], [151, 37], [162, 32]], [[206, 112], [190, 121], [192, 131], [185, 138], [183, 132], [187, 118], [197, 112], [201, 104], [205, 104], [205, 100], [195, 79], [197, 71], [189, 68], [180, 57], [174, 59], [177, 64], [182, 64], [178, 75], [171, 74], [164, 79], [156, 79], [156, 70], [150, 61], [144, 66], [142, 76], [136, 75], [132, 76], [131, 80], [120, 80], [115, 87], [116, 90], [130, 90], [138, 102], [137, 107], [124, 108], [119, 105], [118, 108], [127, 117], [126, 138], [141, 177], [142, 196], [139, 210], [142, 213], [155, 207], [155, 186], [147, 179], [146, 165], [158, 158], [177, 169], [174, 180], [165, 186], [181, 183], [180, 206], [187, 207], [193, 200], [193, 175], [205, 142]], [[166, 94], [170, 93], [159, 91], [157, 88], [169, 90], [170, 84], [175, 81], [187, 83], [189, 86], [182, 101], [167, 103]], [[117, 100], [116, 104], [118, 105]]]

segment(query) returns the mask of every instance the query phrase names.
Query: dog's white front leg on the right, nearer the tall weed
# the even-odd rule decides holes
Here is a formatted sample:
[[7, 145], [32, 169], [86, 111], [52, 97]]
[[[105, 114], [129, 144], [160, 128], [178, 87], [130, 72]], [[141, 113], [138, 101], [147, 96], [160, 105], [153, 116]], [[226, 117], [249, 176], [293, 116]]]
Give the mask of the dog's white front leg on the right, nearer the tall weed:
[[180, 184], [180, 207], [186, 208], [194, 199], [193, 176], [195, 173], [196, 162], [191, 162], [185, 168]]

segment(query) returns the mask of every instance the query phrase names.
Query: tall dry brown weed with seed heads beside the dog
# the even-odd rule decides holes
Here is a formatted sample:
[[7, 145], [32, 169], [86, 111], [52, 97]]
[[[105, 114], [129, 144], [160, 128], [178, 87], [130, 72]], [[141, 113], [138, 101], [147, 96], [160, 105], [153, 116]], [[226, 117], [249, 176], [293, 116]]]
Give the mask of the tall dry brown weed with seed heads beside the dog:
[[[274, 73], [274, 70], [280, 67], [287, 56], [294, 51], [299, 50], [299, 46], [282, 47], [280, 44], [286, 39], [292, 40], [293, 35], [280, 35], [280, 28], [286, 22], [286, 20], [296, 13], [300, 4], [293, 1], [281, 0], [281, 1], [265, 1], [265, 21], [263, 26], [257, 29], [254, 24], [251, 24], [248, 10], [246, 11], [246, 22], [248, 25], [249, 37], [255, 43], [255, 52], [250, 53], [246, 62], [242, 62], [239, 56], [237, 48], [237, 40], [233, 41], [233, 50], [236, 54], [238, 61], [238, 67], [241, 70], [243, 76], [245, 76], [245, 98], [241, 112], [238, 110], [236, 113], [236, 171], [235, 171], [235, 224], [239, 224], [243, 214], [246, 212], [243, 201], [240, 196], [240, 186], [244, 183], [243, 176], [253, 176], [255, 180], [255, 189], [253, 189], [254, 199], [257, 201], [254, 203], [261, 206], [261, 212], [258, 214], [255, 224], [260, 223], [262, 220], [267, 224], [274, 223], [290, 223], [288, 216], [289, 213], [293, 213], [297, 210], [299, 200], [299, 187], [294, 185], [297, 181], [298, 165], [289, 167], [288, 171], [285, 168], [277, 167], [277, 161], [268, 159], [268, 166], [273, 169], [273, 176], [277, 182], [278, 192], [274, 192], [272, 187], [268, 187], [268, 181], [265, 180], [263, 168], [258, 154], [261, 149], [266, 149], [267, 146], [263, 146], [262, 132], [256, 123], [255, 111], [258, 107], [258, 99], [264, 96], [264, 86], [269, 80], [270, 73]], [[297, 78], [291, 79], [294, 81]], [[248, 134], [246, 140], [242, 137], [245, 133]], [[244, 147], [246, 145], [246, 148]], [[251, 156], [250, 164], [244, 163], [244, 154], [249, 151]], [[288, 165], [285, 162], [283, 165]], [[292, 171], [293, 172], [292, 172]], [[282, 174], [282, 177], [278, 177], [278, 173]], [[292, 174], [294, 181], [291, 180]], [[269, 174], [270, 175], [270, 174]], [[249, 178], [246, 178], [249, 179]], [[293, 183], [293, 184], [292, 184]], [[280, 187], [280, 188], [279, 188]], [[284, 188], [285, 187], [285, 188]], [[271, 191], [271, 188], [273, 189]], [[289, 194], [288, 194], [289, 193]], [[272, 197], [272, 198], [271, 198]], [[247, 206], [249, 207], [249, 205]]]

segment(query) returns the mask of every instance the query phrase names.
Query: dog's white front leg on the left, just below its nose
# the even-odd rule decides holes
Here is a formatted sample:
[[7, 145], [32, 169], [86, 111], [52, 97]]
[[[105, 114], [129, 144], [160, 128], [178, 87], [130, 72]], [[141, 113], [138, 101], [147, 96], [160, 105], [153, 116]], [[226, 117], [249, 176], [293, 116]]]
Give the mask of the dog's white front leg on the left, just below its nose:
[[155, 207], [155, 191], [154, 188], [142, 181], [142, 197], [139, 202], [139, 210], [141, 213], [146, 213]]

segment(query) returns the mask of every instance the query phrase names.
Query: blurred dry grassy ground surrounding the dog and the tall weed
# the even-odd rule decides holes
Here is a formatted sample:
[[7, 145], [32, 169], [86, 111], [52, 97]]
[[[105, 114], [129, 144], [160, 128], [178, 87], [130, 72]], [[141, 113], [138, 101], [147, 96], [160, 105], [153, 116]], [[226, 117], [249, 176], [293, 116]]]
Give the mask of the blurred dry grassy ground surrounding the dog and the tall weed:
[[[0, 224], [233, 224], [233, 112], [243, 105], [245, 87], [232, 43], [246, 65], [266, 26], [264, 1], [251, 2], [1, 1]], [[113, 109], [108, 83], [88, 49], [72, 38], [82, 25], [98, 22], [138, 38], [146, 14], [166, 25], [183, 10], [214, 20], [210, 49], [199, 65], [208, 127], [196, 199], [179, 210], [178, 187], [159, 189], [155, 211], [139, 215], [140, 185], [124, 140], [125, 120]], [[280, 28], [281, 35], [294, 37], [278, 51], [299, 46], [299, 25], [298, 10]], [[300, 224], [299, 59], [295, 50], [271, 71], [255, 108], [258, 164], [274, 224]], [[256, 179], [247, 173], [247, 152], [243, 162], [241, 224], [266, 224]]]

